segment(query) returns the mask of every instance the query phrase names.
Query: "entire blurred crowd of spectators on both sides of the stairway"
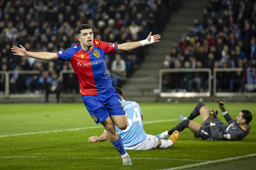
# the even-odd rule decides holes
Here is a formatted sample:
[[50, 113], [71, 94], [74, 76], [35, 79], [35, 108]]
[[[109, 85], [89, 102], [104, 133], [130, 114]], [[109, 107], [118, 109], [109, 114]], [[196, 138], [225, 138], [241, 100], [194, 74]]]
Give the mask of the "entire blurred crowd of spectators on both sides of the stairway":
[[[10, 92], [38, 93], [44, 89], [49, 93], [59, 93], [63, 89], [65, 93], [79, 93], [75, 74], [65, 74], [63, 83], [56, 83], [60, 70], [72, 70], [69, 62], [14, 56], [11, 46], [22, 44], [28, 51], [65, 50], [78, 43], [75, 29], [81, 24], [91, 25], [94, 38], [102, 41], [121, 44], [143, 40], [150, 31], [160, 34], [165, 29], [171, 13], [179, 8], [179, 1], [0, 0], [1, 71], [40, 71], [33, 76], [13, 74]], [[209, 0], [202, 18], [192, 20], [180, 41], [170, 46], [171, 53], [159, 56], [160, 60], [165, 60], [162, 68], [255, 68], [255, 24], [255, 0]], [[113, 86], [121, 87], [125, 83], [120, 76], [132, 76], [143, 63], [149, 47], [106, 56]], [[57, 73], [57, 77], [53, 73]], [[243, 91], [241, 72], [217, 76], [218, 91]], [[207, 76], [200, 72], [165, 74], [163, 78], [166, 91], [199, 92], [208, 83]], [[0, 91], [3, 92], [4, 88], [4, 75], [1, 75]]]

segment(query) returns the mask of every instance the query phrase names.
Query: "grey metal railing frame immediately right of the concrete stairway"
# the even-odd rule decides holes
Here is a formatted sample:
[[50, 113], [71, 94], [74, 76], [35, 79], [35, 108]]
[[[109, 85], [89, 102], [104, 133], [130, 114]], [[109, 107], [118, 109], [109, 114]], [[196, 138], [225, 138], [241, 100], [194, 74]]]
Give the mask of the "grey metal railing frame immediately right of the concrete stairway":
[[[207, 92], [162, 92], [162, 75], [163, 72], [208, 72], [208, 91]], [[211, 96], [211, 69], [209, 68], [178, 68], [178, 69], [161, 69], [159, 70], [159, 91], [160, 97], [209, 97]]]

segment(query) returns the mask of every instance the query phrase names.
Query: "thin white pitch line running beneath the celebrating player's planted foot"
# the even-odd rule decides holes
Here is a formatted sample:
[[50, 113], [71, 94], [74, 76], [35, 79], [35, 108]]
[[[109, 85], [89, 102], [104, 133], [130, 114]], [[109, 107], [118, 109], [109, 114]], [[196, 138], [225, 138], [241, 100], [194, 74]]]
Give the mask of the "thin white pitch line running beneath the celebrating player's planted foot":
[[[121, 159], [121, 157], [35, 157], [35, 156], [0, 156], [0, 158], [57, 158], [57, 159]], [[194, 159], [172, 159], [172, 158], [132, 158], [132, 159], [156, 159], [156, 160], [178, 160], [178, 161], [205, 161], [205, 160], [194, 160]]]

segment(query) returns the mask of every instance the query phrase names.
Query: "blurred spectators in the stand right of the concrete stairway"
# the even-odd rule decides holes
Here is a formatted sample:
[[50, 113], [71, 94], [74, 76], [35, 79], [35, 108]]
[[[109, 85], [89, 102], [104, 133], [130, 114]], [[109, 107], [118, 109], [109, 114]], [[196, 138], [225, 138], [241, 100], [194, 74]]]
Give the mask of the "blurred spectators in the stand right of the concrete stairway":
[[[162, 68], [256, 68], [256, 1], [209, 0], [201, 21], [191, 21]], [[217, 91], [244, 91], [242, 72], [218, 72]], [[163, 74], [163, 91], [202, 91], [208, 73]], [[175, 81], [173, 81], [175, 80]]]

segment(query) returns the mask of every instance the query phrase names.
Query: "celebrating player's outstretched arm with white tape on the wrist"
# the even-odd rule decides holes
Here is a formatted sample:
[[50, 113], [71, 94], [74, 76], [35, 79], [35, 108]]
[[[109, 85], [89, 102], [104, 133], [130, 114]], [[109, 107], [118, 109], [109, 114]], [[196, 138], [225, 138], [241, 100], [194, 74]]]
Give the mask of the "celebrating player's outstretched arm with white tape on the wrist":
[[144, 39], [142, 41], [135, 41], [135, 42], [127, 42], [127, 43], [123, 43], [123, 44], [118, 44], [117, 51], [133, 50], [135, 48], [145, 46], [145, 45], [149, 45], [149, 44], [160, 41], [161, 35], [159, 35], [159, 34], [151, 35], [151, 34], [152, 34], [152, 32], [149, 33], [147, 39]]

